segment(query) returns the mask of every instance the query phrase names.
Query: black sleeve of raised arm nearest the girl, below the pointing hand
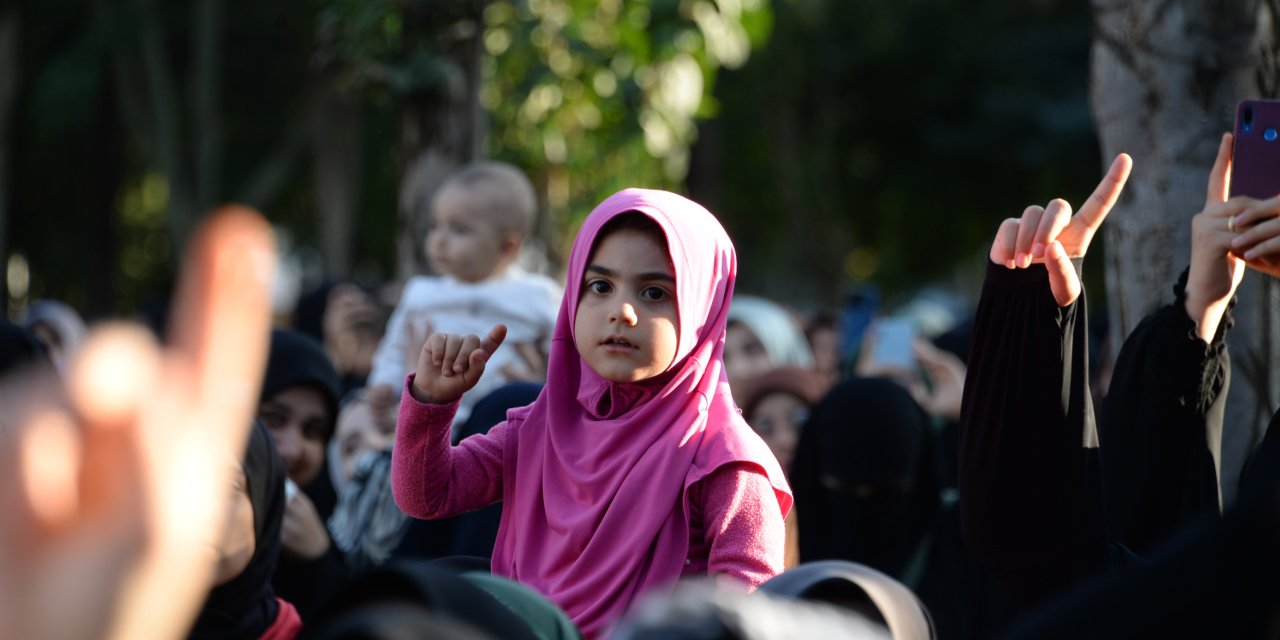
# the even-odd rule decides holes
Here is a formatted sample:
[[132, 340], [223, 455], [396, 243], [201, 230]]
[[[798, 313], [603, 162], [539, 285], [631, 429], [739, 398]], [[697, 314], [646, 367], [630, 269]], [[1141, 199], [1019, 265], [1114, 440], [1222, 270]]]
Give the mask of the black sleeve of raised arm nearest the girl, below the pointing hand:
[[1084, 316], [1083, 293], [1057, 306], [1042, 265], [987, 270], [960, 413], [960, 524], [1023, 605], [1107, 558]]

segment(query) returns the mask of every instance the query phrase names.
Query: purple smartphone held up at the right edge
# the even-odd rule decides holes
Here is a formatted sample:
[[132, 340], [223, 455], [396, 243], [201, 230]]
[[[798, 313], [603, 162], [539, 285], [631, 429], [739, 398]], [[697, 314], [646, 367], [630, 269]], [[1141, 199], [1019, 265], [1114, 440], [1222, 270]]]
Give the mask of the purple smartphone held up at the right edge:
[[1235, 106], [1231, 196], [1280, 195], [1280, 101], [1243, 100]]

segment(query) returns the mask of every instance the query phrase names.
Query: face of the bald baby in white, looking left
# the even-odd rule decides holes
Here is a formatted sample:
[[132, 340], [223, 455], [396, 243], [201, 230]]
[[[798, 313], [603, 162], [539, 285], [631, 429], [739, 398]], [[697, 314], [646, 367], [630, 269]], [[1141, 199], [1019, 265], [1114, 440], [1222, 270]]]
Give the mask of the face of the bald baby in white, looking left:
[[425, 246], [435, 273], [468, 283], [493, 278], [515, 253], [475, 188], [449, 186], [435, 197]]

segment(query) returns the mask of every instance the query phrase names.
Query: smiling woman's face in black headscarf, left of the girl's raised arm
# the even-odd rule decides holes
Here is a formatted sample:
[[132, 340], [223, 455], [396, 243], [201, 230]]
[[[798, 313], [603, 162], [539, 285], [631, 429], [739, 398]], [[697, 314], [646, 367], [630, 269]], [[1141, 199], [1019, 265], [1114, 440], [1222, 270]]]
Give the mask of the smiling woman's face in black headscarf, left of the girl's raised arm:
[[289, 480], [311, 484], [324, 468], [333, 424], [324, 394], [307, 385], [287, 387], [259, 406], [257, 417], [271, 431]]

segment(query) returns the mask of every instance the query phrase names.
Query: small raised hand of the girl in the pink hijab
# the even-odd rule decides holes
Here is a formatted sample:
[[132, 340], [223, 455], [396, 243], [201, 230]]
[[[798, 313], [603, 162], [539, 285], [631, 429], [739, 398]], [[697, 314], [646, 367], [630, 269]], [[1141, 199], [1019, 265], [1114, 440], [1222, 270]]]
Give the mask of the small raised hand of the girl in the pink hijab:
[[475, 335], [436, 333], [417, 356], [417, 375], [410, 388], [419, 402], [448, 404], [480, 381], [484, 365], [507, 338], [507, 325], [494, 325], [484, 340]]

